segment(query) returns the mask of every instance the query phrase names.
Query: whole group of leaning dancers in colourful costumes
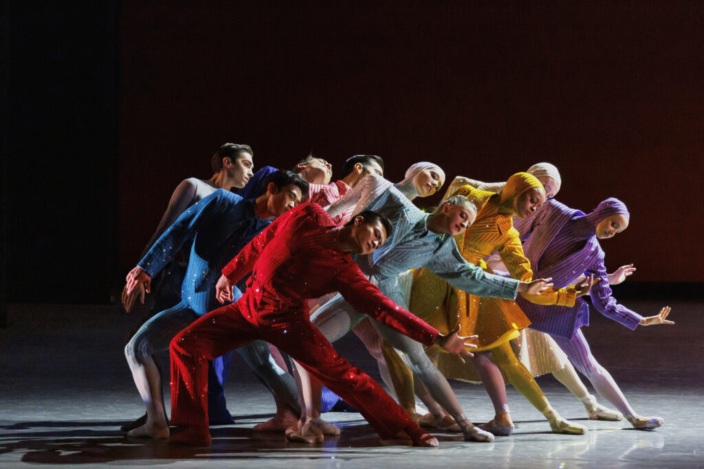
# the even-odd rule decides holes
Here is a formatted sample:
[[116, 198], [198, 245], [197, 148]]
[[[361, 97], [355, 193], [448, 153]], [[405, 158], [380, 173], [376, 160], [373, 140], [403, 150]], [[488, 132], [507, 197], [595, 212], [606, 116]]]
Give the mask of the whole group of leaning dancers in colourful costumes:
[[[431, 162], [411, 165], [396, 184], [376, 155], [349, 158], [334, 182], [332, 165], [313, 155], [292, 171], [254, 172], [251, 148], [226, 143], [211, 163], [210, 179], [177, 186], [127, 275], [125, 309], [154, 290], [156, 313], [125, 347], [146, 405], [123, 426], [128, 436], [208, 446], [208, 425], [233, 423], [223, 390], [232, 350], [275, 399], [275, 416], [255, 430], [292, 441], [339, 435], [321, 413], [341, 398], [383, 440], [437, 446], [424, 430], [431, 428], [491, 442], [514, 430], [505, 380], [553, 432], [583, 434], [536, 383], [546, 373], [589, 418], [662, 425], [630, 406], [581, 329], [589, 325], [585, 295], [631, 330], [672, 324], [670, 307], [644, 317], [612, 297], [609, 285], [635, 271], [608, 274], [599, 244], [629, 224], [620, 200], [588, 214], [567, 207], [555, 200], [558, 169], [544, 162], [505, 183], [455, 177], [432, 212], [413, 203], [444, 186], [444, 171]], [[331, 342], [350, 330], [396, 399], [335, 352]], [[168, 376], [154, 358], [166, 349], [170, 420]], [[575, 368], [615, 410], [596, 401]], [[494, 419], [473, 425], [447, 378], [482, 383]], [[169, 423], [181, 431], [171, 435]]]

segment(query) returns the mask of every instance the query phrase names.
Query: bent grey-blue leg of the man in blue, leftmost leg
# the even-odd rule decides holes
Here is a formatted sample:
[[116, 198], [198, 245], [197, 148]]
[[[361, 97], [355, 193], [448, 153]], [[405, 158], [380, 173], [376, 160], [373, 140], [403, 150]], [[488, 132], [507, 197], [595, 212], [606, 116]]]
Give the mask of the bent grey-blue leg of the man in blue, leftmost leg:
[[153, 354], [168, 347], [170, 340], [198, 316], [181, 302], [161, 311], [142, 325], [125, 346], [127, 364], [146, 406], [146, 423], [127, 433], [130, 437], [168, 438], [168, 418], [164, 411], [161, 376]]

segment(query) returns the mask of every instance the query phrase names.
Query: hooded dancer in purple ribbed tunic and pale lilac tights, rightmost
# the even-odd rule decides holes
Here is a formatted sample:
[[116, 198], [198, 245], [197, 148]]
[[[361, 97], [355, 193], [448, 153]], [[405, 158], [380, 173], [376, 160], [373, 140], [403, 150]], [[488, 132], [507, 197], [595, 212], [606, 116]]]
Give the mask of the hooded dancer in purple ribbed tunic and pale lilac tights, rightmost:
[[[553, 199], [544, 203], [533, 217], [518, 220], [514, 226], [536, 277], [551, 277], [555, 288], [562, 288], [583, 274], [593, 275], [601, 281], [591, 288], [591, 304], [604, 316], [631, 330], [639, 325], [673, 324], [666, 319], [670, 307], [660, 309], [655, 316], [643, 317], [612, 297], [598, 239], [612, 238], [624, 231], [629, 218], [626, 205], [615, 198], [604, 200], [590, 214]], [[583, 298], [577, 298], [571, 308], [534, 304], [522, 297], [517, 297], [516, 302], [532, 321], [530, 327], [551, 335], [577, 370], [589, 378], [598, 393], [621, 411], [634, 428], [653, 430], [662, 425], [662, 418], [639, 416], [608, 371], [591, 354], [581, 329], [589, 326], [589, 304]]]

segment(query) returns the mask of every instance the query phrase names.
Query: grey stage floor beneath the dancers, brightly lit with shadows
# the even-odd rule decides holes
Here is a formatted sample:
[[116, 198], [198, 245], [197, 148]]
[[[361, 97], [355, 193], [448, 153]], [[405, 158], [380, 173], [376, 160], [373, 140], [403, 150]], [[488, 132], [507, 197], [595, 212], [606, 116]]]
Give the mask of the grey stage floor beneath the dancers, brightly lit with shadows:
[[[643, 315], [665, 305], [624, 303]], [[213, 446], [127, 439], [120, 425], [144, 411], [123, 355], [139, 314], [127, 315], [119, 307], [16, 304], [9, 311], [11, 327], [0, 329], [0, 467], [704, 467], [704, 303], [669, 304], [674, 326], [631, 332], [593, 315], [585, 329], [592, 351], [631, 405], [643, 415], [665, 418], [662, 428], [646, 432], [624, 422], [588, 420], [579, 401], [552, 376], [543, 376], [538, 383], [551, 404], [586, 425], [586, 435], [549, 432], [542, 416], [509, 387], [515, 435], [480, 444], [436, 432], [439, 449], [382, 446], [358, 413], [325, 414], [342, 434], [318, 445], [253, 432], [254, 424], [272, 414], [273, 401], [237, 354], [226, 387], [237, 423], [211, 428]], [[337, 344], [343, 356], [378, 378], [375, 362], [360, 347], [354, 335]], [[491, 419], [483, 387], [451, 383], [472, 421]]]

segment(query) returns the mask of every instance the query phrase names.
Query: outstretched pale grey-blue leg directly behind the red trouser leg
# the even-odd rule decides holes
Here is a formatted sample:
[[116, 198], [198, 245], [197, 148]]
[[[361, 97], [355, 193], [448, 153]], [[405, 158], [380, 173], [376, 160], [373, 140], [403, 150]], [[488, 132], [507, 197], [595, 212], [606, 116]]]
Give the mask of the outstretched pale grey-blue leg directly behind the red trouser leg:
[[420, 343], [396, 332], [396, 330], [383, 326], [377, 321], [373, 321], [373, 324], [379, 334], [400, 352], [401, 359], [410, 368], [410, 371], [413, 371], [413, 374], [425, 383], [432, 397], [460, 425], [465, 434], [465, 439], [482, 442], [491, 442], [494, 439], [494, 435], [474, 427], [470, 420], [467, 419], [446, 378], [432, 364]]

